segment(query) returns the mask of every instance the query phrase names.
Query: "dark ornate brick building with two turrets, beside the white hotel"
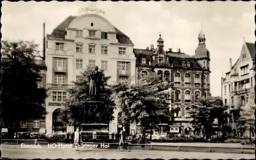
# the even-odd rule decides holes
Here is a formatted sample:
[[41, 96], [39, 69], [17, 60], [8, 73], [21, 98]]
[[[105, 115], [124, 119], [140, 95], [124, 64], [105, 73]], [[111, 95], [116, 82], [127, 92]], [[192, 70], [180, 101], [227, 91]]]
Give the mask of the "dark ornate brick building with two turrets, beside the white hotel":
[[157, 48], [151, 44], [150, 48], [134, 49], [137, 80], [146, 76], [149, 71], [154, 71], [161, 75], [164, 81], [172, 84], [171, 109], [175, 109], [175, 123], [172, 126], [159, 124], [154, 129], [154, 134], [200, 134], [200, 130], [189, 123], [191, 119], [187, 112], [190, 104], [197, 103], [199, 96], [210, 95], [210, 56], [202, 31], [198, 40], [198, 48], [193, 56], [182, 53], [180, 49], [177, 52], [172, 49], [164, 51], [161, 34], [157, 40]]

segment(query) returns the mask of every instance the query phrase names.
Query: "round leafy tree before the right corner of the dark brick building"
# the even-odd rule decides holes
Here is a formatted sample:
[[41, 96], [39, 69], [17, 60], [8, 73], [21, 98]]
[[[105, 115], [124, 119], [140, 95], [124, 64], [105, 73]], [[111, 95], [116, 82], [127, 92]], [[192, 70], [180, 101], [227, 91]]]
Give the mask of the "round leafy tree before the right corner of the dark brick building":
[[193, 120], [190, 123], [202, 128], [203, 136], [208, 139], [215, 119], [218, 119], [219, 126], [223, 131], [224, 119], [227, 116], [224, 113], [225, 109], [226, 106], [223, 105], [220, 97], [199, 97], [198, 103], [191, 105], [189, 115]]

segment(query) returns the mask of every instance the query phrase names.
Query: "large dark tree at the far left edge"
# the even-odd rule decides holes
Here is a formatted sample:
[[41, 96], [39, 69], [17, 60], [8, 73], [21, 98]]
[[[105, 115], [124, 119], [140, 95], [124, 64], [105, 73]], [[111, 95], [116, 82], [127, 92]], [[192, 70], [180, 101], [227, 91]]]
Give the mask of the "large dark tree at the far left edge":
[[46, 66], [37, 64], [38, 44], [30, 41], [2, 40], [2, 118], [13, 138], [14, 124], [20, 121], [44, 119], [47, 98], [46, 88], [38, 88], [40, 70]]

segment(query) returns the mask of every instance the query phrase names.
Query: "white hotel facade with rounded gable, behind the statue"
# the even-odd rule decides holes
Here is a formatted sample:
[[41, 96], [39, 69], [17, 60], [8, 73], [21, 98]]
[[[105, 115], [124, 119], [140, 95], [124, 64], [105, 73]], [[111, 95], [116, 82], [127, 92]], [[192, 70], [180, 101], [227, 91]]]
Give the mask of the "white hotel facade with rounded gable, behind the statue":
[[[60, 28], [61, 25], [63, 24], [58, 27]], [[55, 30], [58, 30], [58, 27]], [[119, 80], [119, 76], [122, 74], [126, 74], [129, 77], [135, 75], [136, 70], [136, 58], [133, 54], [134, 45], [132, 43], [120, 43], [117, 39], [117, 34], [119, 33], [104, 17], [97, 14], [81, 15], [73, 18], [65, 29], [65, 38], [61, 39], [57, 36], [49, 36], [47, 38], [46, 63], [48, 67], [47, 86], [49, 88], [49, 97], [46, 100], [48, 112], [46, 117], [47, 133], [53, 133], [53, 111], [62, 107], [60, 104], [55, 103], [56, 99], [53, 96], [53, 92], [65, 92], [65, 88], [72, 86], [72, 81], [75, 81], [76, 76], [88, 66], [97, 65], [99, 69], [105, 70], [105, 75], [111, 76], [109, 84]], [[130, 72], [119, 71], [119, 62], [129, 64], [128, 71]], [[58, 67], [55, 67], [56, 65]], [[65, 76], [60, 76], [57, 79], [55, 71]], [[62, 84], [56, 85], [56, 83]], [[63, 98], [63, 94], [61, 98]], [[51, 104], [52, 102], [54, 104]], [[117, 131], [118, 112], [119, 110], [117, 109], [114, 113], [115, 120], [110, 124], [110, 132]], [[133, 127], [131, 126], [131, 128]], [[69, 131], [74, 131], [74, 128], [67, 127], [67, 132]]]

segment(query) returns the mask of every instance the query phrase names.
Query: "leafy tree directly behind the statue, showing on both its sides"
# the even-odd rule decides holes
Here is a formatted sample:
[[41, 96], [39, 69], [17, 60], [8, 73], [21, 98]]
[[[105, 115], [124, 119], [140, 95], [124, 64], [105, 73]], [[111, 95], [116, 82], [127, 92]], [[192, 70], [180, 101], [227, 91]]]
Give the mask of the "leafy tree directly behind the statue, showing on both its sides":
[[[69, 98], [65, 103], [65, 107], [61, 109], [60, 117], [69, 126], [80, 126], [84, 121], [91, 122], [94, 119], [92, 114], [88, 112], [90, 108], [84, 105], [87, 98], [89, 98], [90, 72], [90, 68], [84, 70], [77, 81], [73, 82], [74, 86], [67, 90]], [[109, 124], [114, 119], [113, 113], [115, 109], [115, 103], [110, 98], [112, 94], [111, 86], [106, 83], [111, 77], [105, 76], [103, 71], [99, 73], [101, 74], [100, 77], [102, 77], [99, 100], [104, 102], [104, 108], [102, 109], [105, 109], [102, 112], [102, 116], [104, 116], [105, 121]]]

